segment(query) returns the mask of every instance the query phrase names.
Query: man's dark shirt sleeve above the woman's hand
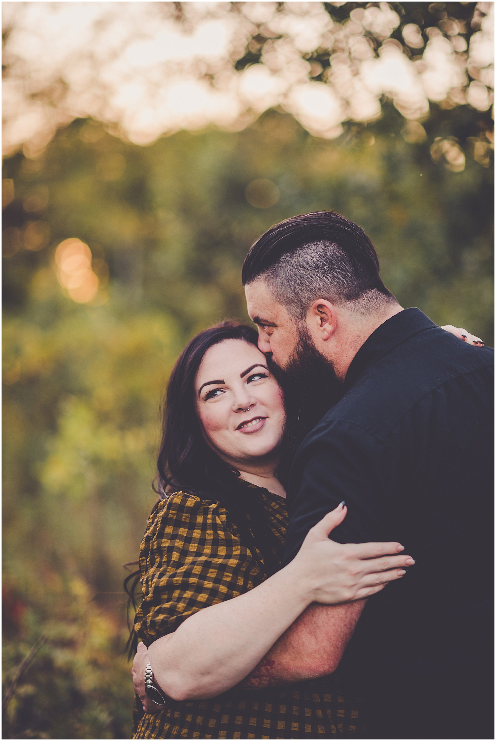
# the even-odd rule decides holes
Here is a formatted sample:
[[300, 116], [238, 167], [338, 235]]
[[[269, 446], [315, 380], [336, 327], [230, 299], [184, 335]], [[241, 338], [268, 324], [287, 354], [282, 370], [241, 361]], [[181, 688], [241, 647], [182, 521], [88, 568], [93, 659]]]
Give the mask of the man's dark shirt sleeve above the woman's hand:
[[342, 543], [399, 539], [394, 525], [396, 471], [394, 451], [359, 425], [334, 420], [325, 431], [311, 433], [291, 469], [283, 564], [294, 559], [310, 528], [343, 500], [348, 513], [331, 531], [331, 539]]

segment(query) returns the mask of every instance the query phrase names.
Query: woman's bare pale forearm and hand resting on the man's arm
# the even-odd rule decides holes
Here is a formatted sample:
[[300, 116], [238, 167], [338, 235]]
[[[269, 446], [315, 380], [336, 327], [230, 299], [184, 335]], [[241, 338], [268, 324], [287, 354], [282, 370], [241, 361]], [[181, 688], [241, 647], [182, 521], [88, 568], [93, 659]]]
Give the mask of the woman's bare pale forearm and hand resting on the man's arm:
[[296, 558], [261, 585], [196, 612], [150, 645], [148, 660], [165, 694], [182, 701], [222, 694], [257, 667], [311, 602], [364, 599], [401, 578], [405, 572], [398, 568], [413, 565], [409, 556], [386, 555], [403, 550], [398, 543], [340, 545], [328, 539], [345, 513], [340, 505], [326, 515]]

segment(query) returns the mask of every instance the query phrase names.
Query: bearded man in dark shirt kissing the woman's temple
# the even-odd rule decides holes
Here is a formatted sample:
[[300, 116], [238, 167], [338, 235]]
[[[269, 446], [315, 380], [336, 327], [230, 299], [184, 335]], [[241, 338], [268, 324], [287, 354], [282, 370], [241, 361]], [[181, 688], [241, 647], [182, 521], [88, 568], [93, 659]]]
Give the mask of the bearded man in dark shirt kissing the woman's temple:
[[286, 562], [343, 499], [333, 539], [397, 540], [417, 560], [367, 603], [311, 605], [265, 657], [267, 684], [331, 673], [349, 642], [340, 671], [363, 693], [367, 738], [493, 738], [493, 351], [403, 310], [370, 239], [336, 213], [272, 227], [242, 277], [288, 438], [306, 434]]

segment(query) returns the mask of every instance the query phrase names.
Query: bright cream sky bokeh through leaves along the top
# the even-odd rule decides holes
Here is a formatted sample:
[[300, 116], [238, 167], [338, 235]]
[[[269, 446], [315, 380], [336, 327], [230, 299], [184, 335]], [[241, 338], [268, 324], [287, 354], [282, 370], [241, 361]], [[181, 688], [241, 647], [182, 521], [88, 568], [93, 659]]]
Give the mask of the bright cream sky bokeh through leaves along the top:
[[[278, 105], [329, 139], [348, 119], [377, 119], [385, 99], [410, 120], [432, 102], [488, 110], [494, 3], [409, 6], [4, 3], [4, 148], [36, 157], [75, 116], [149, 144], [182, 128], [240, 130]], [[115, 156], [101, 179], [119, 178]]]

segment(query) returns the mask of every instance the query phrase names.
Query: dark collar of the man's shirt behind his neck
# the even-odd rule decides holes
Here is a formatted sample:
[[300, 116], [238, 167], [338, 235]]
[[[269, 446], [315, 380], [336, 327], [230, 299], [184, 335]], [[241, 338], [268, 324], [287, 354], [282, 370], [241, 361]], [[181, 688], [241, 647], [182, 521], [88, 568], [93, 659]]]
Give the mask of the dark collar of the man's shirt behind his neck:
[[354, 356], [346, 373], [344, 391], [348, 391], [348, 388], [357, 382], [369, 365], [380, 360], [397, 345], [401, 345], [419, 332], [435, 327], [437, 325], [420, 309], [404, 309], [391, 316], [371, 333]]

